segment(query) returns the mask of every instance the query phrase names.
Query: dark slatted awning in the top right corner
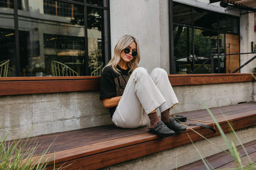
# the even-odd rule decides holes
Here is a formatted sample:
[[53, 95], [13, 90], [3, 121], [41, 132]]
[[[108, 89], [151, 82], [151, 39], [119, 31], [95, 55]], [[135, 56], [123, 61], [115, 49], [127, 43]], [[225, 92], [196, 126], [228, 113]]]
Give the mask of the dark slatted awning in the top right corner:
[[241, 10], [254, 11], [256, 12], [256, 1], [255, 0], [210, 0], [210, 3], [222, 2], [234, 5]]

